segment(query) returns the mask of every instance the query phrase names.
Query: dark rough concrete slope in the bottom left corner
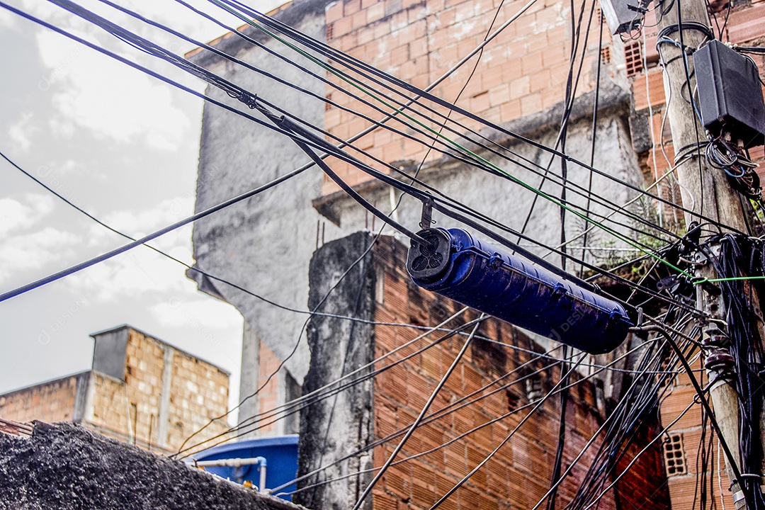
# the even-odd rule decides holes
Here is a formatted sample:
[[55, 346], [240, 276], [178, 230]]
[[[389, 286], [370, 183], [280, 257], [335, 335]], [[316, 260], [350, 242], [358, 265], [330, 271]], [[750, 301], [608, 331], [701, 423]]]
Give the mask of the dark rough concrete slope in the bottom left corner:
[[0, 434], [2, 510], [299, 510], [78, 425]]

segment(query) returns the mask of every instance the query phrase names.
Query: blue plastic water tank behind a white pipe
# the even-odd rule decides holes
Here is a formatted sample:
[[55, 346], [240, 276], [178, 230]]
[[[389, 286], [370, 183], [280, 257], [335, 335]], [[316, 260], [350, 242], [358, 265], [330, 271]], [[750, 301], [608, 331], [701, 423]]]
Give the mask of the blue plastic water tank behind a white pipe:
[[[236, 443], [221, 444], [194, 455], [196, 460], [249, 459], [264, 457], [267, 463], [265, 469], [265, 488], [273, 489], [295, 479], [298, 473], [298, 435], [257, 437], [237, 441]], [[243, 483], [246, 480], [258, 485], [260, 472], [256, 464], [241, 467], [213, 467], [205, 470], [222, 478]], [[281, 489], [279, 492], [291, 492], [295, 484]], [[289, 495], [280, 496], [291, 501]]]

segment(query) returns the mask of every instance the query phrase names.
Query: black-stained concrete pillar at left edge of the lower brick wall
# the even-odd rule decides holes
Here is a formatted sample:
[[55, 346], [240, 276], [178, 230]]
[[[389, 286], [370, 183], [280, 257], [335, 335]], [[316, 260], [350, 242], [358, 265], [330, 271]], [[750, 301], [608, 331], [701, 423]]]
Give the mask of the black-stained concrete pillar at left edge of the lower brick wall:
[[[324, 245], [311, 259], [311, 290], [308, 304], [317, 307], [334, 288], [321, 310], [341, 316], [373, 320], [375, 312], [375, 271], [369, 250], [373, 236], [357, 232]], [[361, 258], [363, 256], [363, 258]], [[360, 259], [361, 258], [361, 259]], [[360, 259], [360, 260], [359, 260]], [[358, 263], [345, 278], [341, 275]], [[353, 372], [373, 360], [374, 329], [368, 323], [332, 317], [313, 317], [308, 325], [311, 368], [303, 391], [314, 391]], [[364, 375], [359, 372], [354, 378]], [[361, 382], [333, 397], [317, 401], [301, 411], [298, 476], [365, 447], [373, 434], [372, 381]], [[324, 470], [298, 484], [304, 487], [318, 480], [332, 479], [372, 466], [371, 453], [357, 456]], [[345, 510], [359, 499], [370, 474], [353, 476], [338, 482], [298, 492], [295, 501], [322, 510]], [[367, 508], [371, 508], [371, 499]]]

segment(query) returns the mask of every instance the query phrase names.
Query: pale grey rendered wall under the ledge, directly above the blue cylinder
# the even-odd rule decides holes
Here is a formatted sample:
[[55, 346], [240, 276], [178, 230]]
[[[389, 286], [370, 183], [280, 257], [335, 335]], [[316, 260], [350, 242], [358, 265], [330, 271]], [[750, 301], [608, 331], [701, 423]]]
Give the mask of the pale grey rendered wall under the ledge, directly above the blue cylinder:
[[[573, 109], [568, 128], [566, 152], [571, 157], [578, 159], [578, 161], [590, 160], [593, 97], [592, 95], [584, 95], [575, 102], [575, 108]], [[602, 87], [599, 105], [601, 111], [597, 124], [594, 167], [606, 171], [607, 174], [625, 180], [630, 184], [636, 186], [642, 185], [643, 176], [640, 173], [637, 158], [632, 148], [630, 129], [627, 122], [629, 96], [627, 96], [623, 89], [610, 83], [610, 85]], [[524, 119], [511, 122], [506, 125], [506, 128], [518, 135], [531, 138], [542, 145], [552, 147], [555, 145], [555, 138], [558, 135], [561, 115], [562, 106], [554, 106], [537, 115], [529, 115], [529, 117]], [[519, 154], [520, 158], [513, 157], [516, 161], [522, 161], [521, 158], [526, 158], [529, 161], [542, 165], [542, 167], [546, 167], [551, 161], [551, 156], [547, 151], [537, 149], [528, 143], [520, 142], [515, 138], [496, 132], [486, 132], [484, 134], [494, 138], [500, 145], [508, 147], [510, 151]], [[532, 187], [540, 187], [542, 177], [523, 167], [521, 164], [513, 164], [486, 151], [483, 151], [482, 155], [522, 182]], [[412, 164], [416, 163], [418, 162], [412, 161]], [[550, 174], [555, 177], [560, 175], [560, 173], [560, 160], [555, 158], [550, 166]], [[542, 197], [537, 197], [535, 193], [522, 188], [512, 180], [497, 177], [476, 168], [466, 167], [464, 164], [451, 158], [442, 158], [441, 161], [429, 164], [428, 167], [423, 168], [420, 178], [449, 197], [453, 197], [464, 205], [470, 206], [480, 213], [487, 214], [503, 225], [516, 230], [522, 229], [526, 216], [529, 210], [531, 210], [532, 203], [535, 201], [534, 212], [529, 220], [529, 226], [526, 228], [526, 235], [546, 245], [557, 246], [560, 243], [559, 206]], [[577, 184], [586, 190], [589, 186], [589, 179], [590, 171], [588, 169], [577, 164], [568, 163], [568, 181], [570, 183]], [[552, 180], [546, 180], [542, 184], [542, 190], [552, 195], [552, 197], [560, 197], [561, 195], [561, 186], [555, 184]], [[592, 177], [592, 190], [594, 200], [605, 199], [617, 204], [627, 203], [627, 201], [639, 194], [637, 191], [629, 190], [627, 187], [615, 184], [613, 180], [597, 174]], [[389, 188], [379, 184], [379, 182], [373, 182], [364, 186], [361, 193], [372, 203], [387, 204], [389, 202]], [[568, 190], [566, 199], [573, 206], [583, 208], [587, 206], [586, 198], [571, 189]], [[334, 196], [323, 197], [314, 201], [314, 204], [327, 216], [339, 218], [343, 232], [363, 229], [370, 221], [366, 210], [363, 210], [344, 193], [335, 193]], [[633, 205], [630, 210], [634, 211], [639, 207], [640, 204], [638, 203]], [[607, 215], [610, 213], [606, 206], [594, 202], [590, 204], [590, 209], [595, 214]], [[404, 197], [402, 205], [398, 210], [400, 223], [409, 228], [416, 229], [421, 210], [422, 205], [418, 200]], [[448, 227], [457, 224], [455, 220], [448, 219], [438, 212], [434, 213], [434, 219], [438, 222], [437, 226]], [[626, 224], [633, 224], [634, 220], [626, 219], [625, 216], [620, 214], [614, 216], [613, 219], [615, 223], [607, 223], [608, 226], [621, 230], [628, 237], [634, 237], [633, 232], [624, 228]], [[379, 220], [376, 220], [374, 224], [379, 227]], [[584, 219], [580, 219], [572, 213], [567, 213], [567, 239], [572, 239], [583, 230]], [[509, 239], [516, 239], [509, 234], [508, 237]], [[540, 249], [527, 241], [522, 241], [521, 244], [531, 247], [531, 251], [539, 255], [547, 252], [547, 250]], [[581, 245], [581, 240], [572, 245]], [[594, 229], [588, 235], [588, 246], [600, 246], [607, 249], [602, 252], [588, 251], [586, 258], [591, 263], [599, 264], [608, 256], [624, 255], [624, 253], [615, 254], [610, 251], [614, 247], [623, 247], [623, 244], [599, 229]], [[575, 254], [581, 257], [581, 250], [575, 252]], [[558, 265], [560, 263], [558, 255], [551, 255], [548, 257], [548, 260]], [[571, 269], [570, 265], [569, 269]]]

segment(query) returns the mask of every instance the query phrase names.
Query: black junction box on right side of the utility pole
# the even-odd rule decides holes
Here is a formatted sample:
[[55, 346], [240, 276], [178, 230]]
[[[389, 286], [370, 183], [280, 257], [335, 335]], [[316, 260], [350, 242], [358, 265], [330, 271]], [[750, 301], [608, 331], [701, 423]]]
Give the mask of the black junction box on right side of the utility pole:
[[712, 136], [731, 134], [744, 148], [765, 142], [765, 103], [760, 75], [752, 60], [720, 41], [693, 54], [698, 108]]

